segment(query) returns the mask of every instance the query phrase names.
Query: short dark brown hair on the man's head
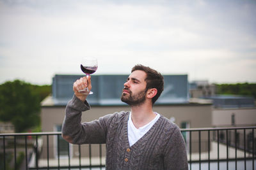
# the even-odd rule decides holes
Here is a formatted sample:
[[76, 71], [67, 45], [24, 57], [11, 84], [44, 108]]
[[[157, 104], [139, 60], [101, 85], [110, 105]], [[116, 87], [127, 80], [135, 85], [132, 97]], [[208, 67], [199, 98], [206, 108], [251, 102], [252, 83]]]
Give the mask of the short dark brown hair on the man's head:
[[147, 74], [147, 77], [145, 79], [145, 81], [147, 82], [146, 90], [153, 89], [153, 88], [157, 89], [156, 96], [154, 96], [152, 98], [152, 104], [154, 104], [164, 90], [163, 76], [158, 71], [156, 71], [150, 67], [143, 66], [141, 64], [137, 64], [136, 66], [132, 67], [131, 73], [136, 70], [145, 71], [145, 73]]

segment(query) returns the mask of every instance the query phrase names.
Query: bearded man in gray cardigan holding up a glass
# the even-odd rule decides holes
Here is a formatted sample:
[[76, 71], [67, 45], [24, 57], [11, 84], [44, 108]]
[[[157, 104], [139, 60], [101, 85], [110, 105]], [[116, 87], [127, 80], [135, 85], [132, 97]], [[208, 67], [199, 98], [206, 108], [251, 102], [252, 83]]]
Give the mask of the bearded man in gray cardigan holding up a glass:
[[106, 143], [106, 169], [188, 169], [186, 146], [179, 127], [152, 110], [163, 91], [163, 76], [142, 65], [132, 68], [121, 100], [131, 111], [116, 112], [81, 124], [81, 113], [90, 109], [86, 95], [78, 91], [91, 78], [73, 85], [67, 104], [62, 136], [70, 143]]

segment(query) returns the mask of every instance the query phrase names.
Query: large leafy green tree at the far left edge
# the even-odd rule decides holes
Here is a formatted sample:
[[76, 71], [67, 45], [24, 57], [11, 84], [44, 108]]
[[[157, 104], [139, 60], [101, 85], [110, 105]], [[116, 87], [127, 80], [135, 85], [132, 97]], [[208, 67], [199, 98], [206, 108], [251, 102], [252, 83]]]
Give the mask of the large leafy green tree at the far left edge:
[[0, 85], [0, 120], [12, 122], [15, 132], [40, 125], [40, 96], [30, 83], [14, 80]]

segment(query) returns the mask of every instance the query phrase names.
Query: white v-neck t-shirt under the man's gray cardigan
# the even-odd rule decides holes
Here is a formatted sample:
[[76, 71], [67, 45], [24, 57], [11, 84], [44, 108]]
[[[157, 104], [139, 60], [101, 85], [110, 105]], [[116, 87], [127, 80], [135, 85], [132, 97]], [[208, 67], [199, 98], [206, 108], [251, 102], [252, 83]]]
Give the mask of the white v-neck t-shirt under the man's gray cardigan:
[[156, 117], [151, 122], [137, 129], [132, 122], [131, 113], [130, 113], [129, 120], [128, 120], [128, 140], [129, 140], [130, 146], [134, 145], [136, 141], [138, 141], [144, 134], [146, 134], [149, 131], [149, 129], [156, 123], [159, 117], [160, 115], [156, 113]]

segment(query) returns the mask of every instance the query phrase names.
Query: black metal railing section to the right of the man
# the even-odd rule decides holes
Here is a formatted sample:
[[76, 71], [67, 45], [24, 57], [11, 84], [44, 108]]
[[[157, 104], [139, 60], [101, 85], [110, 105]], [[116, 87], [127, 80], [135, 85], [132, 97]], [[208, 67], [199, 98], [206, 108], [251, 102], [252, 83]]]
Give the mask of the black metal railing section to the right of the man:
[[[203, 169], [202, 164], [204, 164], [204, 169], [224, 169], [226, 167], [226, 169], [237, 170], [239, 169], [238, 164], [240, 169], [243, 164], [242, 169], [254, 170], [255, 129], [256, 127], [182, 129], [182, 132], [186, 132], [189, 136], [187, 140], [186, 136], [184, 137], [189, 148], [189, 169]], [[203, 143], [204, 145], [202, 145]], [[198, 157], [193, 158], [193, 147], [195, 148], [196, 145], [198, 145], [198, 150], [196, 150]]]

